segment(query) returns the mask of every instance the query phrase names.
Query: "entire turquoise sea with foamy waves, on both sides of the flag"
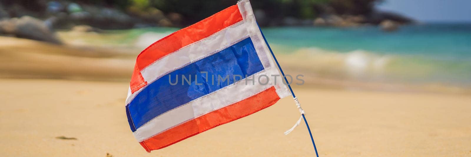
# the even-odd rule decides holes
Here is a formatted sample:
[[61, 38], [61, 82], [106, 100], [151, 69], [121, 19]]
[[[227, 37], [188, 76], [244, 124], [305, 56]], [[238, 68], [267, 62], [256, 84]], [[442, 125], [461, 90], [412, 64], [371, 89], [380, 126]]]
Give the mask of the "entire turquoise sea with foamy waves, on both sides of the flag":
[[[119, 34], [110, 41], [145, 49], [177, 30], [110, 31]], [[279, 60], [299, 67], [305, 75], [471, 87], [471, 24], [406, 25], [390, 33], [376, 26], [270, 27], [262, 31]]]

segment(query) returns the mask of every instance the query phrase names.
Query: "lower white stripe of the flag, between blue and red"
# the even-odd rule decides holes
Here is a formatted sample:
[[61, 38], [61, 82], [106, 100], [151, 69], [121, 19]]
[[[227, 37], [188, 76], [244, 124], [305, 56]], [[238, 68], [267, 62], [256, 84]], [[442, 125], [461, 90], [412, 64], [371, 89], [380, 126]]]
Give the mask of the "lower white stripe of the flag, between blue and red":
[[[227, 107], [231, 104], [247, 99], [261, 91], [268, 89], [269, 87], [272, 87], [274, 82], [271, 74], [276, 74], [274, 72], [276, 71], [262, 70], [256, 74], [253, 74], [252, 76], [247, 77], [249, 79], [254, 78], [254, 85], [252, 85], [252, 81], [247, 81], [246, 84], [245, 80], [247, 80], [247, 78], [244, 78], [239, 82], [230, 84], [225, 88], [190, 101], [180, 107], [174, 108], [142, 125], [135, 132], [133, 132], [133, 134], [136, 139], [141, 142], [153, 137], [154, 135], [178, 126], [179, 124], [183, 124], [189, 120], [210, 113], [211, 111], [218, 110], [219, 108]], [[261, 75], [266, 75], [269, 78]], [[278, 80], [280, 80], [280, 78], [277, 78], [277, 83]]]

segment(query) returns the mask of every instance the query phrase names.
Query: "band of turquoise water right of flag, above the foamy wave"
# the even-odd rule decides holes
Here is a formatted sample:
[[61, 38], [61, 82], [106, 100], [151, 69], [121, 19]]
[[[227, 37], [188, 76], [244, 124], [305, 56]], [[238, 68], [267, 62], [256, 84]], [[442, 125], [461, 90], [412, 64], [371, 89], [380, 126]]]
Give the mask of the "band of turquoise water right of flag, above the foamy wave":
[[366, 50], [383, 54], [413, 54], [451, 59], [471, 57], [471, 24], [402, 26], [388, 33], [380, 28], [280, 27], [262, 29], [270, 43], [317, 47], [349, 52]]

